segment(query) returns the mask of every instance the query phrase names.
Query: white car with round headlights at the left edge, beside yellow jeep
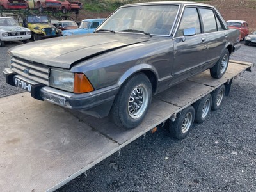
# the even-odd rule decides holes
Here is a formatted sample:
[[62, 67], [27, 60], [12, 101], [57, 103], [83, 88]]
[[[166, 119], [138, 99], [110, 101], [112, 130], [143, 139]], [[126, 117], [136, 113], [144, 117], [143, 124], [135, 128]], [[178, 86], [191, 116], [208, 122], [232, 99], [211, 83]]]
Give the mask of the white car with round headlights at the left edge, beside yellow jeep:
[[19, 26], [12, 17], [0, 17], [0, 47], [4, 47], [4, 42], [26, 43], [29, 38], [31, 38], [31, 31], [28, 28]]

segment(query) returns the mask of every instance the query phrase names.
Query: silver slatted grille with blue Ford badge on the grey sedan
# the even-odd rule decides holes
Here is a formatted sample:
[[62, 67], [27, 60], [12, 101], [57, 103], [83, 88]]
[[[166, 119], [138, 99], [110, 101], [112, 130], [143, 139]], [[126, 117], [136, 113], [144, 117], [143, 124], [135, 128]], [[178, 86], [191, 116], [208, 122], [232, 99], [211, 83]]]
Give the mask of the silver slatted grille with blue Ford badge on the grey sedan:
[[22, 60], [20, 58], [12, 58], [11, 68], [17, 74], [20, 74], [28, 79], [49, 85], [49, 67], [45, 67], [40, 63], [33, 61]]

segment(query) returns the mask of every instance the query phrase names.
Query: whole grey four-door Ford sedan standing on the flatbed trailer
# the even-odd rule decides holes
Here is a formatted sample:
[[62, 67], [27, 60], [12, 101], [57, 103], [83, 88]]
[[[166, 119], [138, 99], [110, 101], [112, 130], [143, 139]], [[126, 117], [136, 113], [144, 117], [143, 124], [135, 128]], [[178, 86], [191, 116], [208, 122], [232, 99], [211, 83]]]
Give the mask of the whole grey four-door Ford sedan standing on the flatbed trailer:
[[6, 81], [116, 125], [139, 125], [155, 95], [204, 70], [221, 78], [239, 49], [213, 6], [178, 1], [118, 8], [89, 35], [19, 45], [8, 51]]

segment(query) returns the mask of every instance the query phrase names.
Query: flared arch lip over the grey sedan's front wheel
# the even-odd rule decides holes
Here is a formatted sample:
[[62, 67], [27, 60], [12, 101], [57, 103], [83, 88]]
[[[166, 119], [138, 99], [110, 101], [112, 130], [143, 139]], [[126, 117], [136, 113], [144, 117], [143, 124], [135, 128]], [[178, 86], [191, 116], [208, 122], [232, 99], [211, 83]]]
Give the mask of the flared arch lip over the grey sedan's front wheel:
[[120, 77], [117, 84], [122, 86], [125, 81], [127, 81], [127, 79], [129, 79], [131, 76], [134, 76], [134, 74], [138, 74], [139, 72], [145, 74], [148, 77], [152, 85], [152, 92], [154, 94], [157, 90], [158, 73], [156, 68], [154, 68], [152, 65], [140, 64], [129, 68], [129, 70], [125, 71], [124, 74]]

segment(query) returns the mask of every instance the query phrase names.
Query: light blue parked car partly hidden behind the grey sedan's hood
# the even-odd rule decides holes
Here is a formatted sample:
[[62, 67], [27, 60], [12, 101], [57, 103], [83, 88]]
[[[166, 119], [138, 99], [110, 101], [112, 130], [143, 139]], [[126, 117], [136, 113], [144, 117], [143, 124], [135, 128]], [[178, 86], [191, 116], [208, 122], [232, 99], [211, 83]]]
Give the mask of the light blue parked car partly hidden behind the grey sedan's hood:
[[93, 33], [105, 19], [84, 19], [78, 29], [63, 31], [63, 36]]

